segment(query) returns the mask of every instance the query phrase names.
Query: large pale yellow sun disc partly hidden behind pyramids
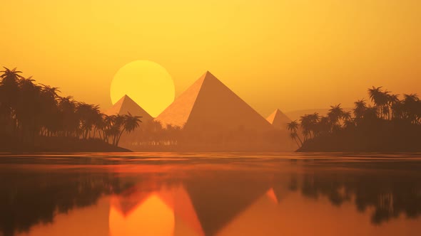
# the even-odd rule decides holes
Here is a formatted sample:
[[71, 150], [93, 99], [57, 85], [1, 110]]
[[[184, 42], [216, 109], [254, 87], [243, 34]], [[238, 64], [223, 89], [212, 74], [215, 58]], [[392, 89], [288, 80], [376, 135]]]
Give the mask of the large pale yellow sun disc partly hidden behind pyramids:
[[114, 75], [110, 95], [113, 104], [128, 95], [152, 117], [157, 117], [174, 101], [175, 88], [171, 75], [161, 65], [136, 60], [124, 65]]

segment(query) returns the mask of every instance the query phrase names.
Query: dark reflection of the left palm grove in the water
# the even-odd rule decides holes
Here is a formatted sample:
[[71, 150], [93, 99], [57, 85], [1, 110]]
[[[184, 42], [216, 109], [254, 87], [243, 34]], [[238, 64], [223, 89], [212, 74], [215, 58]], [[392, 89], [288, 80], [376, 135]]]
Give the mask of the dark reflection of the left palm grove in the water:
[[103, 194], [118, 193], [112, 173], [1, 171], [0, 230], [4, 235], [54, 222], [58, 213], [96, 203]]

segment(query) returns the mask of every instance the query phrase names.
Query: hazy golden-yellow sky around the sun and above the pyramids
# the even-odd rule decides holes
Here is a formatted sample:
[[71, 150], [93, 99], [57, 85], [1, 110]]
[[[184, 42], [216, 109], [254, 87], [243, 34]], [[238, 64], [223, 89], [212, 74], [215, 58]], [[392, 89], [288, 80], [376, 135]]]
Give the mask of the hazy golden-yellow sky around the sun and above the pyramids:
[[14, 0], [0, 23], [0, 65], [104, 108], [133, 60], [163, 65], [176, 95], [210, 70], [264, 116], [372, 85], [421, 93], [420, 0]]

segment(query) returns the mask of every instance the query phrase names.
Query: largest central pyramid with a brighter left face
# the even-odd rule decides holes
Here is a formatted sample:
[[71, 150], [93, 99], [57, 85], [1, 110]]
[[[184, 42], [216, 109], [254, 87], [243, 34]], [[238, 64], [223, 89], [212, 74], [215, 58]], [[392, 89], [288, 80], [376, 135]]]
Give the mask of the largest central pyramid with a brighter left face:
[[209, 72], [183, 92], [156, 120], [163, 126], [171, 124], [196, 132], [273, 129], [265, 118]]

